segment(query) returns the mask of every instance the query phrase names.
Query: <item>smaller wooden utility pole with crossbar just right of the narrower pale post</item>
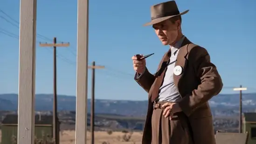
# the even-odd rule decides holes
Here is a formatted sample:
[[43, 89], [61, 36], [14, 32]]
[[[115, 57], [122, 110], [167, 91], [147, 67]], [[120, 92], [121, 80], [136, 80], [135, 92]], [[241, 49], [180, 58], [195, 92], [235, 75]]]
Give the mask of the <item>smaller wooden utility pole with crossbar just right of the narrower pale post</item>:
[[94, 91], [95, 91], [95, 69], [104, 69], [104, 66], [95, 66], [95, 62], [92, 62], [92, 66], [89, 66], [89, 69], [92, 69], [91, 74], [91, 112], [90, 112], [90, 131], [91, 131], [91, 144], [94, 144]]

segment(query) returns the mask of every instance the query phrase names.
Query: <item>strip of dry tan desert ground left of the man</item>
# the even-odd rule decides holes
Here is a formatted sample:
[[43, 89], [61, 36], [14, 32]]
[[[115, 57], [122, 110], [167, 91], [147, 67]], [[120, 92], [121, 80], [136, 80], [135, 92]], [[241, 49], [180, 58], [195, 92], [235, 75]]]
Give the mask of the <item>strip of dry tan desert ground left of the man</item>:
[[[125, 133], [106, 131], [95, 131], [94, 144], [141, 144], [142, 132], [133, 132], [129, 141], [125, 142], [123, 138]], [[130, 135], [129, 133], [127, 135]], [[106, 142], [106, 143], [104, 143]], [[1, 130], [0, 130], [1, 143]], [[60, 133], [60, 144], [75, 144], [75, 130], [64, 130]], [[87, 132], [87, 144], [90, 144], [90, 132]]]

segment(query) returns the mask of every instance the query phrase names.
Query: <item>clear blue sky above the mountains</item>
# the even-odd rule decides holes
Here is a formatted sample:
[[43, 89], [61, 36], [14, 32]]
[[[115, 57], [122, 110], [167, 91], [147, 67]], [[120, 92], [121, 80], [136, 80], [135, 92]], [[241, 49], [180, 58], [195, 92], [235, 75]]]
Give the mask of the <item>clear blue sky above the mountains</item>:
[[[97, 99], [145, 100], [147, 95], [133, 80], [131, 56], [147, 58], [154, 73], [169, 47], [162, 46], [150, 21], [150, 6], [162, 0], [91, 0], [89, 23], [89, 62], [106, 69], [96, 70]], [[255, 0], [177, 0], [182, 16], [182, 31], [191, 41], [208, 49], [217, 66], [224, 88], [242, 84], [247, 92], [256, 92], [256, 1]], [[18, 92], [19, 67], [19, 0], [1, 0], [0, 10], [0, 93]], [[7, 21], [6, 21], [7, 20]], [[8, 22], [9, 21], [9, 22]], [[76, 94], [76, 0], [38, 0], [37, 41], [69, 41], [70, 47], [57, 48], [57, 92]], [[5, 32], [3, 34], [2, 32]], [[52, 93], [52, 48], [36, 49], [36, 93]], [[89, 64], [90, 64], [89, 63]], [[88, 97], [91, 73], [89, 70]]]

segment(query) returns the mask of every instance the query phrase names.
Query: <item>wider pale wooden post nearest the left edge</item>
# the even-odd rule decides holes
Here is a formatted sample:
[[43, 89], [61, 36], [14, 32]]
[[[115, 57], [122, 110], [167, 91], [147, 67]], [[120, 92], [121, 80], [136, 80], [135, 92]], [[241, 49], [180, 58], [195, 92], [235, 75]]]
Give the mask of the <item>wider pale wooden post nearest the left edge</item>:
[[36, 0], [20, 1], [18, 144], [35, 144]]

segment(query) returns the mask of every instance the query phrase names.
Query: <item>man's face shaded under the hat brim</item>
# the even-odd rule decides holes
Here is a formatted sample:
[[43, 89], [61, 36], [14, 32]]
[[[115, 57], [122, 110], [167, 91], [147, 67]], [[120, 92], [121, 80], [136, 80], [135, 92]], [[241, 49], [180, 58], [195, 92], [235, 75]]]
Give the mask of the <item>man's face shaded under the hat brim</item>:
[[180, 21], [162, 21], [154, 24], [153, 28], [163, 45], [173, 45], [179, 34]]

